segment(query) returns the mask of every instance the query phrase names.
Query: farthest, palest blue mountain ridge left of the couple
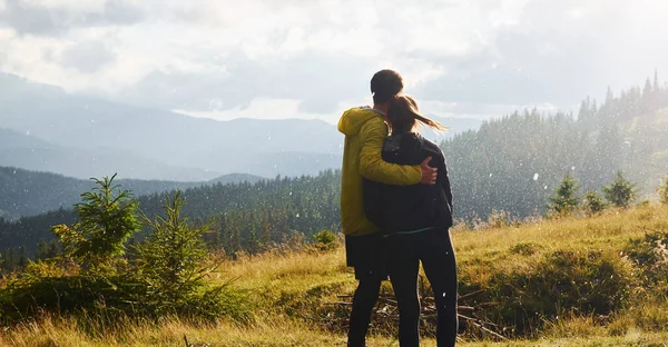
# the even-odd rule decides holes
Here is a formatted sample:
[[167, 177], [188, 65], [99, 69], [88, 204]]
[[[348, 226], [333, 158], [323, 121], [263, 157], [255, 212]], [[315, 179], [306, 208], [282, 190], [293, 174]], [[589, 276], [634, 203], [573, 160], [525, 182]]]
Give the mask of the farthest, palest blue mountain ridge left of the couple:
[[[334, 126], [320, 120], [215, 121], [69, 95], [2, 73], [0, 89], [1, 128], [58, 146], [120, 150], [127, 156], [222, 174], [311, 174], [317, 165], [294, 161], [285, 167], [281, 153], [338, 156], [343, 140]], [[340, 160], [333, 162], [340, 165]], [[87, 165], [85, 160], [80, 163]], [[117, 171], [126, 168], [115, 167]], [[125, 176], [134, 175], [127, 171], [130, 175]]]

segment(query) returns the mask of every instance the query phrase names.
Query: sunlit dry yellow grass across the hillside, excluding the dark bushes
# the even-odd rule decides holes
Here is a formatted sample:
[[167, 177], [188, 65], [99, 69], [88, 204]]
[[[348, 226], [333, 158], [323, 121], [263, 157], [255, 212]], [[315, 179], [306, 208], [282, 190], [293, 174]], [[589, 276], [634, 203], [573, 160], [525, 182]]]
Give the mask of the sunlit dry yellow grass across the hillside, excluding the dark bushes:
[[[544, 220], [519, 227], [453, 232], [460, 274], [484, 282], [492, 271], [521, 271], [533, 259], [557, 249], [619, 251], [629, 238], [649, 230], [668, 231], [668, 207], [610, 210], [593, 218]], [[518, 246], [519, 245], [519, 246]], [[513, 251], [529, 249], [529, 252]], [[533, 251], [533, 254], [531, 254]], [[343, 333], [323, 328], [315, 309], [338, 295], [352, 294], [355, 280], [342, 247], [327, 252], [267, 252], [227, 261], [212, 280], [236, 278], [253, 304], [254, 321], [193, 326], [176, 318], [161, 324], [127, 324], [95, 338], [73, 318], [43, 318], [0, 330], [0, 346], [344, 346]], [[462, 341], [461, 346], [666, 346], [668, 304], [659, 299], [618, 313], [602, 326], [590, 317], [560, 318], [542, 338], [509, 343]], [[397, 346], [396, 339], [372, 336], [370, 346]], [[425, 339], [423, 346], [435, 346]]]

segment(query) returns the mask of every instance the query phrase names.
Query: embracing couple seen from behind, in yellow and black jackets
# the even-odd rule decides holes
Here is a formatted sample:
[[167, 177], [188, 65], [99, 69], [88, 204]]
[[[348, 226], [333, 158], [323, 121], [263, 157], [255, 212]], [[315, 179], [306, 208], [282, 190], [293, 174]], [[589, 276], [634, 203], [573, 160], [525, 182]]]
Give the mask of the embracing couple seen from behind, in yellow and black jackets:
[[346, 261], [358, 280], [348, 346], [365, 345], [381, 281], [387, 276], [399, 305], [400, 346], [420, 345], [420, 262], [434, 294], [438, 345], [455, 344], [450, 180], [440, 148], [415, 132], [420, 123], [446, 128], [420, 113], [402, 90], [399, 73], [381, 70], [371, 79], [373, 107], [350, 109], [338, 121], [345, 135], [341, 220]]

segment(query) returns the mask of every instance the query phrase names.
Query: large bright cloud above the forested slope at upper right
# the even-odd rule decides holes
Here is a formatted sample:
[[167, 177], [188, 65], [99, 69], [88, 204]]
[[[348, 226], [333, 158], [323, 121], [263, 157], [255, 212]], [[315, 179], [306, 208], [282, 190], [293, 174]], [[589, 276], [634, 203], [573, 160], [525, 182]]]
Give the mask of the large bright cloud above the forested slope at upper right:
[[499, 30], [493, 46], [468, 58], [473, 66], [420, 86], [419, 93], [460, 102], [568, 108], [588, 95], [601, 97], [607, 86], [628, 88], [655, 68], [668, 70], [668, 49], [648, 39], [658, 39], [659, 28], [666, 29], [649, 9], [666, 13], [668, 7], [656, 1], [615, 3], [563, 1], [548, 7], [532, 1], [519, 18], [521, 26]]

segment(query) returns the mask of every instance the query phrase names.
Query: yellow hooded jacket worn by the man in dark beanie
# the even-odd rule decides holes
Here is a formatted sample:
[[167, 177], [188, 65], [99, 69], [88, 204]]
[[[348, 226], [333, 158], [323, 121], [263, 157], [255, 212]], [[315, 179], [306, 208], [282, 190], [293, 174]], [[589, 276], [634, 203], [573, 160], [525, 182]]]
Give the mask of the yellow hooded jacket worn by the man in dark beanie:
[[400, 166], [383, 161], [381, 151], [387, 137], [387, 125], [380, 111], [370, 107], [352, 108], [341, 116], [338, 131], [345, 135], [341, 169], [341, 225], [345, 235], [377, 231], [364, 214], [362, 178], [411, 186], [420, 184], [420, 166]]

